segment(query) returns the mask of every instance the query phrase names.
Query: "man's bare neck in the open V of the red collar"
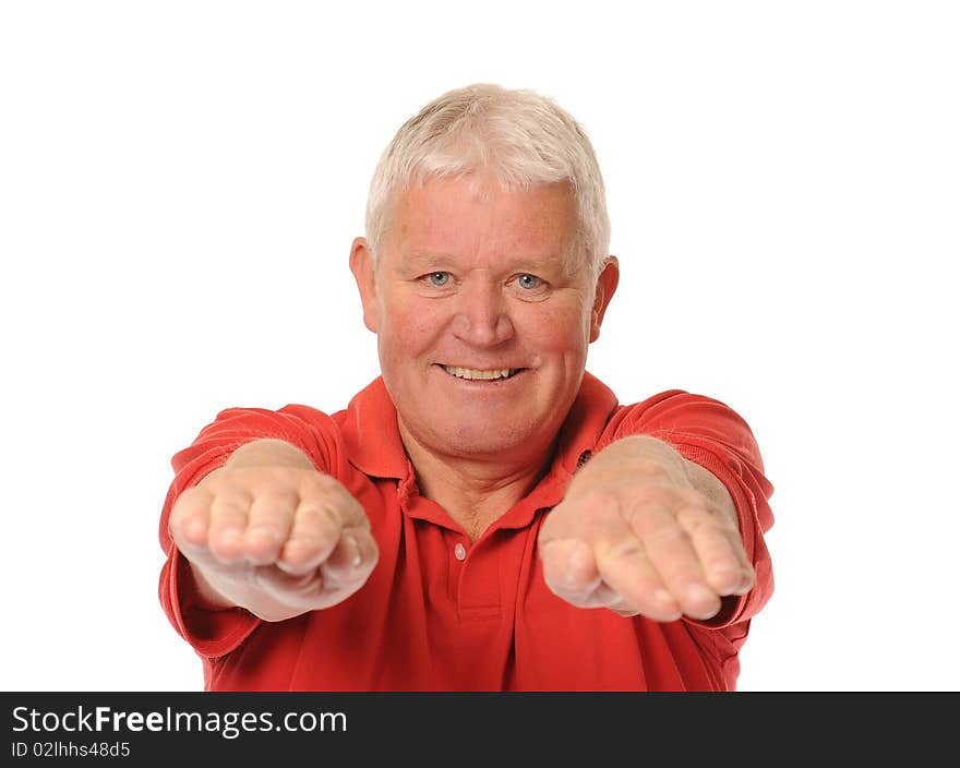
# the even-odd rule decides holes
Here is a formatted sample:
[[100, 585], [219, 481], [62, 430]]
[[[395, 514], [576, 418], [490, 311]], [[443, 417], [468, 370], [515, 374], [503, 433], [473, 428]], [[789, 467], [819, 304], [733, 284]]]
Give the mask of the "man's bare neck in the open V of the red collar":
[[403, 428], [400, 434], [417, 473], [420, 495], [440, 504], [467, 532], [480, 538], [540, 480], [547, 461], [504, 463], [497, 458], [439, 455], [418, 443]]

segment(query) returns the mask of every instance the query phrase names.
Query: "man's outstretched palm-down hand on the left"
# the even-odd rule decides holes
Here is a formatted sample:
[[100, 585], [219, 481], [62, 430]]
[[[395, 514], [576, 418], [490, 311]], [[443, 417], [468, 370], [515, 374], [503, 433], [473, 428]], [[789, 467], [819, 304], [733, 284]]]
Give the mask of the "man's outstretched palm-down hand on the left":
[[170, 532], [211, 608], [283, 621], [346, 600], [379, 550], [336, 479], [290, 466], [227, 466], [177, 499]]

